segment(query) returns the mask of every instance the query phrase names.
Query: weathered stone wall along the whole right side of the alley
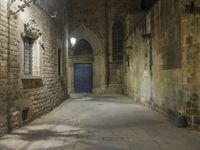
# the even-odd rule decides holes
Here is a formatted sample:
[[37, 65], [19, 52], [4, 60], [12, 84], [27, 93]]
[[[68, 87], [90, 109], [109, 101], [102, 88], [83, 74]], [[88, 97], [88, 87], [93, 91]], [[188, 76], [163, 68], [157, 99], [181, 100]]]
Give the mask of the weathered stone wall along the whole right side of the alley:
[[199, 13], [186, 12], [185, 5], [190, 2], [160, 0], [129, 29], [124, 93], [199, 124]]

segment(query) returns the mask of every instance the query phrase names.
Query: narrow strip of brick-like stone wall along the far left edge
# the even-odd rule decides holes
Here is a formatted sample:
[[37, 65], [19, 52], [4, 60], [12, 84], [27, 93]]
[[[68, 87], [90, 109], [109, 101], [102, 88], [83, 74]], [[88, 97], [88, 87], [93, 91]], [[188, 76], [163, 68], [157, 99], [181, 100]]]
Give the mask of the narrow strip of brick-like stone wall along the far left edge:
[[[1, 14], [1, 48], [0, 48], [0, 133], [7, 132], [7, 99], [8, 99], [8, 78], [7, 78], [7, 59], [8, 59], [8, 53], [7, 53], [7, 41], [8, 41], [8, 29], [7, 29], [7, 7], [6, 2], [1, 1], [0, 4], [0, 14]], [[16, 26], [14, 26], [16, 27]]]

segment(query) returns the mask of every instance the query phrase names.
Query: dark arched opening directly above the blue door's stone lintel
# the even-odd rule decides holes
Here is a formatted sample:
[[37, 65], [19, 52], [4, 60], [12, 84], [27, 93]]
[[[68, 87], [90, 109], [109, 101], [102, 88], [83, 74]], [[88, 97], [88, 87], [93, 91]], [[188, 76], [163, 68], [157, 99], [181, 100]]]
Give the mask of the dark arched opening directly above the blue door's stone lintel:
[[90, 43], [84, 39], [78, 41], [74, 48], [74, 56], [79, 55], [93, 55], [92, 47]]

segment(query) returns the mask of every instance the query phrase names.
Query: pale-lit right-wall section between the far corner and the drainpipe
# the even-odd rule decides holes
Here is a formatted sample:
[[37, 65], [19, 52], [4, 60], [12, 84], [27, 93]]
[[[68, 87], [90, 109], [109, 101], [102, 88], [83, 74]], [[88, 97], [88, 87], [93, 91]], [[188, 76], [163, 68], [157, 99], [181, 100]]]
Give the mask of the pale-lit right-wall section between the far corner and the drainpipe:
[[146, 22], [140, 22], [140, 26], [128, 37], [124, 57], [124, 93], [143, 103], [150, 98], [148, 44], [147, 39], [142, 37], [145, 27]]

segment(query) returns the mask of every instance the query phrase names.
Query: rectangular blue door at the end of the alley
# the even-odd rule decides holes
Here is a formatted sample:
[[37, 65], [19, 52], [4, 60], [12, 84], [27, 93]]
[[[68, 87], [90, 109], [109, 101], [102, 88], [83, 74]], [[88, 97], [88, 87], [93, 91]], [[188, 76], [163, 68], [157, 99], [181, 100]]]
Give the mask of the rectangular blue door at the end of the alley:
[[92, 64], [74, 65], [74, 88], [76, 93], [90, 93], [93, 88]]

